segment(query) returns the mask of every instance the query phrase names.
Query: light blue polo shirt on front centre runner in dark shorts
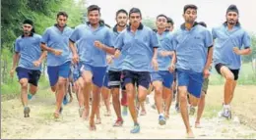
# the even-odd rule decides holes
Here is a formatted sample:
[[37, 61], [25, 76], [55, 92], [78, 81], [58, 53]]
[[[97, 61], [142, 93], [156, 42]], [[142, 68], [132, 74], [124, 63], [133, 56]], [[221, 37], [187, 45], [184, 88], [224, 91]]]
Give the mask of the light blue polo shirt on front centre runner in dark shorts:
[[115, 42], [115, 48], [124, 55], [122, 70], [151, 71], [154, 47], [159, 47], [159, 41], [150, 27], [141, 23], [133, 33], [128, 26]]

